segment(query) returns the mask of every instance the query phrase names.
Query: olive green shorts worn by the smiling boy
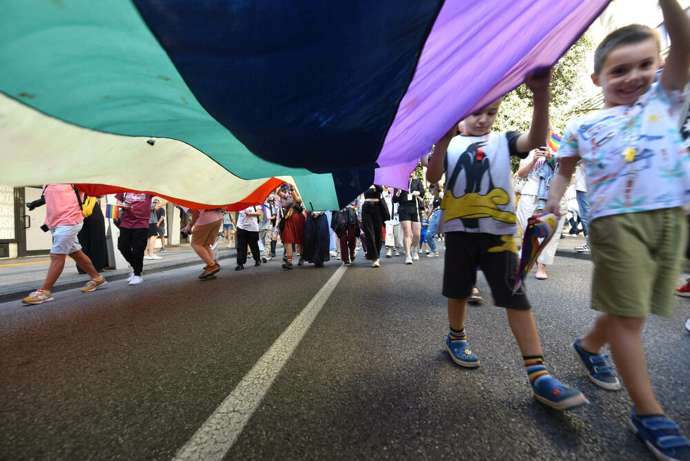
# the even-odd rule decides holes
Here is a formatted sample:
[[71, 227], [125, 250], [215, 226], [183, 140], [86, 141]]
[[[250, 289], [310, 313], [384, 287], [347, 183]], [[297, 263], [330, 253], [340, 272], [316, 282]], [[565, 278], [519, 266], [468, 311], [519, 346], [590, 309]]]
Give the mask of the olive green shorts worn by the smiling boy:
[[687, 232], [682, 208], [595, 219], [589, 226], [592, 308], [622, 317], [673, 315]]

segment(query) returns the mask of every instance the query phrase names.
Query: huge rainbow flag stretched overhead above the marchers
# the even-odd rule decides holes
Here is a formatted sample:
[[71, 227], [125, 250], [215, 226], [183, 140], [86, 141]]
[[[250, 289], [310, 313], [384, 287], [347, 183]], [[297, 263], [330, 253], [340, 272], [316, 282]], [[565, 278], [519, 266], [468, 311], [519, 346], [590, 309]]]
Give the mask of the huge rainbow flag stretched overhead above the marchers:
[[0, 14], [0, 183], [339, 209], [551, 66], [605, 0], [31, 0]]

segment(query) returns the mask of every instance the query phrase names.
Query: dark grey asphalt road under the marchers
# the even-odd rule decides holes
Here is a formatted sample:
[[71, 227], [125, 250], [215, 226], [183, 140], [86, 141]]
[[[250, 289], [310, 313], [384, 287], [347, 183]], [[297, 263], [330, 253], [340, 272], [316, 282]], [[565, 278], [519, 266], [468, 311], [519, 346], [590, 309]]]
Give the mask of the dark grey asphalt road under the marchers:
[[[562, 413], [533, 398], [483, 277], [466, 321], [482, 366], [466, 370], [443, 347], [442, 259], [358, 257], [339, 271], [226, 262], [215, 280], [181, 268], [0, 304], [0, 458], [209, 459], [210, 444], [233, 460], [653, 459], [627, 428], [627, 393], [595, 387], [569, 353], [595, 315], [590, 262], [558, 257], [528, 282], [546, 365], [591, 402]], [[688, 435], [690, 302], [676, 304], [644, 340], [658, 398]], [[290, 326], [303, 311], [313, 323]], [[210, 415], [221, 424], [204, 433]]]

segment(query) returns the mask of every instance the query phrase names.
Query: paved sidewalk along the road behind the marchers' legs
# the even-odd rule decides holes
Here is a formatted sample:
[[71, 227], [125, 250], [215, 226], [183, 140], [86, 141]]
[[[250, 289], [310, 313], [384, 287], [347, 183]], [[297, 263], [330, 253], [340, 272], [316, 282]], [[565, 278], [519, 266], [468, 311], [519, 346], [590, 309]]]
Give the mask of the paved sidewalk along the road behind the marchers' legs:
[[[558, 244], [557, 256], [575, 257], [578, 259], [589, 259], [589, 252], [578, 253], [573, 250], [575, 246], [584, 244], [584, 237], [564, 237], [560, 239]], [[278, 244], [278, 248], [282, 250], [282, 244]], [[199, 271], [204, 266], [204, 262], [199, 259], [193, 249], [188, 245], [177, 247], [169, 247], [165, 253], [156, 252], [163, 259], [144, 259], [144, 277], [147, 274], [155, 274], [163, 271], [170, 271], [181, 267], [199, 266]], [[232, 265], [235, 266], [235, 257], [237, 253], [235, 248], [226, 248], [221, 245], [219, 247], [219, 261], [221, 266]], [[282, 251], [278, 252], [282, 255]], [[223, 264], [223, 260], [230, 260]], [[21, 300], [23, 297], [35, 291], [43, 283], [46, 277], [48, 266], [50, 265], [50, 256], [32, 256], [14, 259], [0, 259], [0, 302], [8, 302], [12, 300]], [[124, 280], [129, 277], [130, 268], [105, 270], [102, 274], [108, 279], [108, 282], [115, 282], [115, 280]], [[88, 282], [88, 275], [81, 275], [77, 273], [75, 262], [68, 257], [65, 263], [65, 270], [57, 283], [52, 287], [52, 293], [59, 291], [72, 290], [73, 288], [82, 288]]]

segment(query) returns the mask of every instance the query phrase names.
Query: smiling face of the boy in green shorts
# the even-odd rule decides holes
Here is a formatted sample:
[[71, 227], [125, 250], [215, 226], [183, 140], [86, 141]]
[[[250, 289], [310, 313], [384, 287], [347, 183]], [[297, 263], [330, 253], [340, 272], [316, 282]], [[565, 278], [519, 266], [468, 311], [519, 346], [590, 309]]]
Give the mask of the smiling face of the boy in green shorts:
[[659, 64], [659, 48], [654, 39], [613, 48], [600, 72], [592, 74], [592, 81], [604, 92], [604, 108], [635, 103], [649, 90]]

